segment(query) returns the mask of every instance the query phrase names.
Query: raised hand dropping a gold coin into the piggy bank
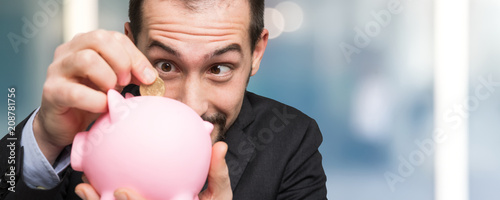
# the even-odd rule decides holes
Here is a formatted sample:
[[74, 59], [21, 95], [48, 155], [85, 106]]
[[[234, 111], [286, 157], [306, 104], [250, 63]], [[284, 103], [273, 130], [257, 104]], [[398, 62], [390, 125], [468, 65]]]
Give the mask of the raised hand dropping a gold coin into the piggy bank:
[[42, 104], [33, 123], [47, 160], [53, 164], [75, 134], [107, 110], [109, 89], [151, 84], [156, 76], [144, 54], [118, 32], [92, 31], [59, 46], [47, 70]]

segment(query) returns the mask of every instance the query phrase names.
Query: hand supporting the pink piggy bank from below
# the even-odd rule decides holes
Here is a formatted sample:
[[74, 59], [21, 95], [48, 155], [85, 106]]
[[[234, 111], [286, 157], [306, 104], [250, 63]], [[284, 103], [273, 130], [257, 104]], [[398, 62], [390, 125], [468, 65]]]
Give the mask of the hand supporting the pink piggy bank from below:
[[[231, 182], [229, 180], [229, 170], [226, 160], [227, 144], [217, 142], [212, 146], [212, 159], [210, 170], [208, 171], [208, 187], [198, 196], [200, 200], [225, 200], [232, 199]], [[84, 200], [98, 200], [99, 195], [94, 188], [88, 184], [87, 179], [82, 177], [85, 183], [81, 183], [75, 188], [75, 193]], [[120, 188], [114, 193], [116, 200], [145, 200], [139, 193], [132, 189]]]

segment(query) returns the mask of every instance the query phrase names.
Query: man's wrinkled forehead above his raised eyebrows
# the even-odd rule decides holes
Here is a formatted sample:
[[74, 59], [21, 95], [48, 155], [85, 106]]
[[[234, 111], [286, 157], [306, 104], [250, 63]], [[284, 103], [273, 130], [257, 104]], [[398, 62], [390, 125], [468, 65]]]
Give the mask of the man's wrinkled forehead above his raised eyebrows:
[[249, 37], [251, 17], [247, 0], [145, 0], [142, 15], [146, 29], [200, 36], [237, 33]]

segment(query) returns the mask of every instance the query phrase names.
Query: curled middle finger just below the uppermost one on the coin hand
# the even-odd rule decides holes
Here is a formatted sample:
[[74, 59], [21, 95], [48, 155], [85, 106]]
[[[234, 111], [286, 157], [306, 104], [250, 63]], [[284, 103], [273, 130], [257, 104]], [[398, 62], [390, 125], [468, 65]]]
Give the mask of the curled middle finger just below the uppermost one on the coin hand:
[[61, 64], [66, 77], [90, 80], [103, 92], [117, 85], [117, 77], [106, 61], [95, 51], [85, 49], [66, 57]]

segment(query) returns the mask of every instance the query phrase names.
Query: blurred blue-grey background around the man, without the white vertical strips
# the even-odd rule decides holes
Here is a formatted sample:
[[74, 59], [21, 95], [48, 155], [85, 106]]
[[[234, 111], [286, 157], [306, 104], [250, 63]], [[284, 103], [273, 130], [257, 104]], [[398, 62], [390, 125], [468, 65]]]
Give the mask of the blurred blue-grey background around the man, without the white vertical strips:
[[[16, 88], [16, 123], [40, 105], [47, 67], [64, 41], [61, 2], [0, 0], [0, 136], [8, 88]], [[394, 2], [266, 0], [272, 39], [248, 90], [316, 119], [329, 199], [435, 199], [434, 2]], [[86, 17], [123, 32], [127, 9], [128, 1], [99, 0], [97, 14]], [[472, 100], [468, 114], [460, 115], [463, 102], [448, 106], [451, 119], [468, 124], [468, 147], [454, 156], [468, 157], [464, 199], [499, 199], [500, 1], [474, 0], [468, 11], [469, 20], [454, 23], [469, 26], [463, 89]]]

